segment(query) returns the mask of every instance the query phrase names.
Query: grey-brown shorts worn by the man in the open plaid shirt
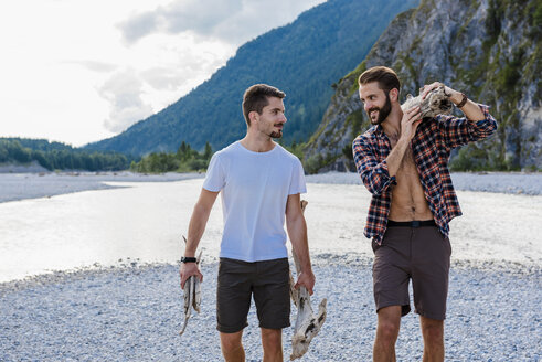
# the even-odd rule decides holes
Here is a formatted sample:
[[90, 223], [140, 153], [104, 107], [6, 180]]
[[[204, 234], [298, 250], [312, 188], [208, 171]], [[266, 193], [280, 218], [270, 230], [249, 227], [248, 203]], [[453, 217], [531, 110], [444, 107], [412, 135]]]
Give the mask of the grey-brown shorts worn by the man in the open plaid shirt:
[[436, 226], [387, 227], [382, 245], [373, 242], [373, 290], [376, 311], [401, 306], [411, 311], [408, 283], [412, 279], [415, 312], [446, 318], [451, 246]]

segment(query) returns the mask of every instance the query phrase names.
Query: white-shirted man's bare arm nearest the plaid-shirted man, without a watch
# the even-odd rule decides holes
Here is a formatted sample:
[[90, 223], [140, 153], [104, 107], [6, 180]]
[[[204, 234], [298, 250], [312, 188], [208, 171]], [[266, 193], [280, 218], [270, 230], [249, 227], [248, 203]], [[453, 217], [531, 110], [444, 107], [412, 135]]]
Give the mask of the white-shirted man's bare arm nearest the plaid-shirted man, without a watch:
[[304, 286], [312, 295], [315, 274], [310, 264], [307, 223], [302, 214], [299, 194], [288, 195], [288, 201], [286, 202], [286, 228], [288, 230], [291, 247], [301, 267], [301, 273], [297, 277], [295, 287]]

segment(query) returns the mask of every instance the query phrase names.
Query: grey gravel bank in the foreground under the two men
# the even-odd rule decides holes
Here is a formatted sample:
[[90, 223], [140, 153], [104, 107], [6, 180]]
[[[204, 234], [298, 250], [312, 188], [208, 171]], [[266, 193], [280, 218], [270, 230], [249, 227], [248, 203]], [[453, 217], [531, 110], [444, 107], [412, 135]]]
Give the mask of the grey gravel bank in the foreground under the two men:
[[[371, 260], [315, 256], [316, 308], [328, 317], [301, 361], [371, 361], [376, 315]], [[216, 263], [202, 266], [202, 312], [182, 337], [174, 265], [131, 265], [38, 276], [0, 285], [0, 361], [221, 361], [215, 330]], [[541, 269], [455, 265], [446, 361], [540, 361]], [[291, 321], [294, 322], [294, 312]], [[254, 307], [244, 332], [247, 361], [261, 361]], [[285, 359], [291, 328], [284, 331]], [[397, 361], [421, 361], [418, 318], [402, 319]]]

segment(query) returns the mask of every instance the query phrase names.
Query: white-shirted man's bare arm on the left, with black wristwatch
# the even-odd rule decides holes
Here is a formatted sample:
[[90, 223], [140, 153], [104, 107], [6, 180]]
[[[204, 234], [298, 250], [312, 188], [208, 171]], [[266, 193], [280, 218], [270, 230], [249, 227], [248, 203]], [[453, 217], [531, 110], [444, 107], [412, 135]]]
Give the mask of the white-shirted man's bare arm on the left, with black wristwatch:
[[[195, 249], [198, 248], [198, 244], [200, 244], [200, 239], [205, 231], [205, 225], [208, 223], [209, 215], [211, 214], [211, 209], [213, 209], [213, 204], [217, 195], [219, 192], [201, 189], [200, 199], [194, 205], [192, 217], [190, 217], [184, 256], [195, 256]], [[203, 279], [203, 275], [195, 263], [181, 263], [180, 274], [181, 288], [184, 288], [184, 283], [192, 275], [198, 276], [201, 280]]]

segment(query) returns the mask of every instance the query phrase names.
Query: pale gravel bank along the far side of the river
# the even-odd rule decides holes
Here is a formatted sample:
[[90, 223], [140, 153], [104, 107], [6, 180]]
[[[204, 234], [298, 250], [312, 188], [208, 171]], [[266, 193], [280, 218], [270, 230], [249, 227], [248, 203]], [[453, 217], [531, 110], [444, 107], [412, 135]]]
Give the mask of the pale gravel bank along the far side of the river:
[[[106, 182], [172, 182], [203, 179], [204, 173], [141, 174], [132, 172], [0, 173], [0, 203], [26, 199], [119, 188]], [[458, 191], [509, 194], [542, 194], [542, 173], [482, 172], [451, 173]], [[355, 172], [328, 172], [306, 175], [307, 183], [362, 184]]]

